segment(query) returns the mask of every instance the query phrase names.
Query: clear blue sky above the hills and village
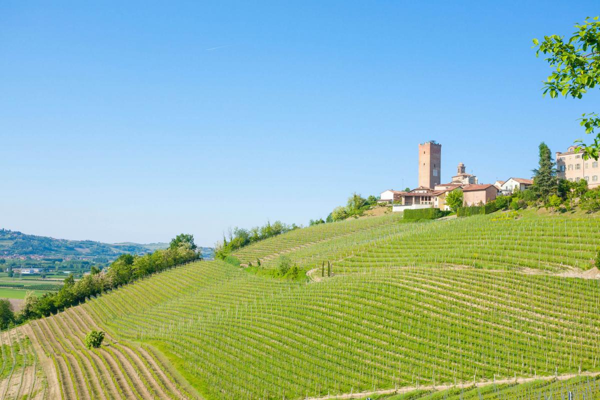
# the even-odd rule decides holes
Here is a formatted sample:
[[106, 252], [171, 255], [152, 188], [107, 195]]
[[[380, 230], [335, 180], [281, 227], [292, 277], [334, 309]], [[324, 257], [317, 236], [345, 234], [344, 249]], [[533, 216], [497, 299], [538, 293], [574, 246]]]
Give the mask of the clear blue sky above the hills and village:
[[[92, 4], [96, 3], [96, 4]], [[533, 37], [597, 1], [0, 3], [0, 227], [213, 245], [417, 184], [442, 143], [482, 183], [528, 178], [598, 95], [542, 98]]]

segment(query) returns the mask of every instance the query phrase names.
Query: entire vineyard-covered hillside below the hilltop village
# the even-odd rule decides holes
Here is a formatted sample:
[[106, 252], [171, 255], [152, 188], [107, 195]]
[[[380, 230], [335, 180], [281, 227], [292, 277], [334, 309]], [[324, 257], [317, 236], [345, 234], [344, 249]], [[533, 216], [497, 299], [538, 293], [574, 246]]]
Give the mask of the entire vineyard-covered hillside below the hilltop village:
[[[311, 270], [310, 282], [199, 261], [25, 330], [55, 361], [46, 376], [58, 371], [68, 399], [301, 399], [401, 387], [411, 395], [386, 398], [524, 399], [559, 396], [567, 384], [596, 393], [595, 377], [502, 380], [600, 372], [600, 284], [584, 279], [599, 234], [599, 219], [533, 212], [316, 225], [235, 254], [268, 270], [285, 253]], [[323, 260], [334, 276], [320, 276]], [[96, 326], [109, 345], [86, 350]], [[454, 383], [467, 387], [432, 393]]]

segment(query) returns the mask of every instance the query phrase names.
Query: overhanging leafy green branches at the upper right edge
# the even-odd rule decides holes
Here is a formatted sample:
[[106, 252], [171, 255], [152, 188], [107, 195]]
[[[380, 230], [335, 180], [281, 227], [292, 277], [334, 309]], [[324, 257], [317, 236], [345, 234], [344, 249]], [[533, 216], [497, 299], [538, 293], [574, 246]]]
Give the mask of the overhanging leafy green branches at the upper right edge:
[[[559, 95], [564, 97], [581, 98], [587, 89], [595, 88], [600, 83], [600, 22], [598, 17], [590, 20], [587, 17], [583, 23], [575, 25], [573, 35], [565, 40], [559, 35], [545, 36], [544, 40], [533, 39], [537, 47], [536, 55], [548, 55], [545, 61], [553, 68], [553, 73], [544, 81], [544, 95], [551, 98]], [[586, 134], [595, 134], [593, 143], [586, 145], [583, 139], [575, 140], [581, 143], [583, 158], [598, 160], [600, 150], [600, 116], [597, 113], [584, 113], [580, 125]]]

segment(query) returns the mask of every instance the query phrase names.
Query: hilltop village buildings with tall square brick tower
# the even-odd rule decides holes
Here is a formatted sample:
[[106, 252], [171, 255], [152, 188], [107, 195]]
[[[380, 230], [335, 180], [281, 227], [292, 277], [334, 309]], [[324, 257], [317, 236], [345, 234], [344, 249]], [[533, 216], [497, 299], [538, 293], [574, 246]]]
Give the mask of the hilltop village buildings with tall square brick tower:
[[[572, 151], [572, 149], [569, 149]], [[580, 157], [580, 156], [578, 156]], [[559, 159], [559, 154], [557, 154]], [[597, 164], [597, 163], [596, 163]], [[526, 190], [533, 185], [533, 179], [509, 178], [494, 184], [480, 184], [477, 176], [466, 172], [463, 163], [458, 163], [456, 175], [450, 182], [442, 184], [442, 145], [435, 140], [419, 145], [419, 186], [410, 191], [386, 190], [380, 194], [378, 203], [392, 203], [395, 212], [406, 209], [439, 208], [449, 210], [446, 196], [455, 190], [463, 192], [465, 206], [485, 204], [499, 195], [510, 196], [514, 191]], [[562, 168], [563, 173], [566, 169]], [[569, 172], [575, 172], [569, 169]], [[575, 179], [575, 177], [569, 177]], [[595, 177], [597, 179], [597, 177]], [[579, 178], [577, 178], [579, 181]]]

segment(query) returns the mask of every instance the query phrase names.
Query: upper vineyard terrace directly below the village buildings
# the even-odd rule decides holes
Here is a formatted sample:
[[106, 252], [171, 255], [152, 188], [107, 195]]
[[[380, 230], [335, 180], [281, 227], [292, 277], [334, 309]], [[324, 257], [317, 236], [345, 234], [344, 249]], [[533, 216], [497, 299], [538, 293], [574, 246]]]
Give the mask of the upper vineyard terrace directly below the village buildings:
[[[417, 265], [557, 272], [589, 269], [598, 243], [598, 218], [538, 218], [526, 213], [519, 219], [505, 219], [496, 213], [448, 221], [385, 225], [290, 249], [287, 255], [305, 269], [332, 261], [335, 273]], [[253, 246], [248, 246], [247, 251], [252, 251]], [[263, 266], [274, 268], [276, 259], [271, 258]]]

